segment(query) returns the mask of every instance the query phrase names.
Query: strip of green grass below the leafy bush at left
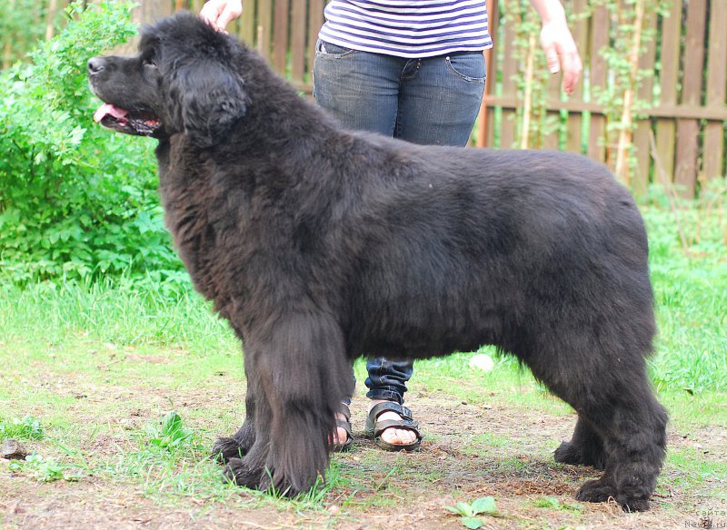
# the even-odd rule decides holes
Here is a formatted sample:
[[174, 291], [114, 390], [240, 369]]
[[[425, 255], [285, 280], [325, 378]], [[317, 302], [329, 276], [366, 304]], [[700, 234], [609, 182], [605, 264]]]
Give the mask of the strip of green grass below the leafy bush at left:
[[0, 283], [0, 341], [59, 347], [78, 341], [120, 346], [174, 346], [193, 353], [239, 351], [226, 322], [189, 282], [105, 280], [40, 283], [19, 289]]

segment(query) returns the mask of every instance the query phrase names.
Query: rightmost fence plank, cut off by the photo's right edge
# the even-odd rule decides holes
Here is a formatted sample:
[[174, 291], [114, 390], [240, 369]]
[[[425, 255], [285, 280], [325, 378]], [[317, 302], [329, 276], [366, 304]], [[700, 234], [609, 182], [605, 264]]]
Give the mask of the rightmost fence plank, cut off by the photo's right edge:
[[[707, 72], [707, 107], [724, 109], [725, 87], [727, 86], [727, 2], [712, 1], [710, 6], [709, 71]], [[704, 166], [706, 179], [725, 174], [724, 123], [709, 122], [704, 128]]]

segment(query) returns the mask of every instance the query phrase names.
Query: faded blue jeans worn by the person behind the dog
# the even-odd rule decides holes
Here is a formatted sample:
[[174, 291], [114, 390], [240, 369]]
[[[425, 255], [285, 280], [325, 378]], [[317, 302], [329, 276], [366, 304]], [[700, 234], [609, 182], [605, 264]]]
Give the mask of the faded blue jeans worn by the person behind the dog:
[[[407, 59], [319, 41], [313, 71], [315, 101], [344, 127], [426, 145], [466, 145], [484, 93], [480, 53]], [[413, 361], [366, 369], [367, 397], [403, 403]]]

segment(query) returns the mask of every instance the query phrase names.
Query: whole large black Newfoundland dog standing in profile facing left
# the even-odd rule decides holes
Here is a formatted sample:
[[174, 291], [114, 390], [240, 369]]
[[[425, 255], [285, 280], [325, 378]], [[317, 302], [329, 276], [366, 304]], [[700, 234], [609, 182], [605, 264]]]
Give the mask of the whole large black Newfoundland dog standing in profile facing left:
[[88, 62], [96, 120], [159, 142], [166, 224], [196, 289], [244, 340], [246, 417], [214, 453], [294, 495], [328, 465], [361, 355], [492, 344], [578, 412], [576, 498], [649, 506], [666, 413], [642, 218], [602, 166], [559, 152], [411, 145], [344, 131], [199, 18]]

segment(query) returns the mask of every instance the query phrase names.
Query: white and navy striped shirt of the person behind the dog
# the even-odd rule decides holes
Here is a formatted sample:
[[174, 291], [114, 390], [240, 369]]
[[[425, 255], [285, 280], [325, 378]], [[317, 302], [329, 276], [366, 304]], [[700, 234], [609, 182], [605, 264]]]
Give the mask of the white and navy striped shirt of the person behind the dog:
[[493, 46], [485, 0], [331, 0], [318, 37], [374, 54], [432, 57]]

